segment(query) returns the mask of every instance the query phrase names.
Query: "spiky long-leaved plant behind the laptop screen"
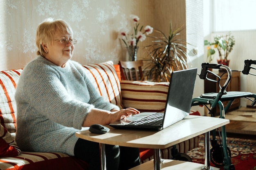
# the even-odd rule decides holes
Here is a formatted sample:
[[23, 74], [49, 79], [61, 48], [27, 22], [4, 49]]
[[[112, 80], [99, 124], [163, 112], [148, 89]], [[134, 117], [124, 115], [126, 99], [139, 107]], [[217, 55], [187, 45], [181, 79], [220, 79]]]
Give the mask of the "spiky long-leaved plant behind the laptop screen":
[[[146, 46], [148, 56], [144, 67], [144, 76], [146, 80], [153, 82], [169, 82], [171, 73], [177, 70], [187, 69], [186, 40], [178, 38], [182, 31], [182, 26], [173, 30], [170, 23], [169, 35], [166, 36], [162, 31], [155, 29], [161, 36], [148, 36], [153, 38], [153, 44]], [[189, 50], [188, 50], [189, 51]]]

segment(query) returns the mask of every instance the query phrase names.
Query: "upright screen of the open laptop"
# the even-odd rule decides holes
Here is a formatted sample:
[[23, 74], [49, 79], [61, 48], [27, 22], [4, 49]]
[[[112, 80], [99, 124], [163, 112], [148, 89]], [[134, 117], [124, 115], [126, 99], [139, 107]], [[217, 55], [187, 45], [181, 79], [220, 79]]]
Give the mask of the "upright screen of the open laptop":
[[189, 115], [197, 68], [174, 71], [171, 74], [163, 128]]

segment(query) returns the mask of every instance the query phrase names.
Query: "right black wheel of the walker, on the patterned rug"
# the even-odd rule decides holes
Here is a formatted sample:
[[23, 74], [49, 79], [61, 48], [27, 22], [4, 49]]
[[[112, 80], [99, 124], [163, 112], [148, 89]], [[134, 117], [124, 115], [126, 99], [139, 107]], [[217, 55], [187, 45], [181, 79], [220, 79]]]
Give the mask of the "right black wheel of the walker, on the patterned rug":
[[[227, 147], [228, 156], [231, 157], [231, 151]], [[216, 145], [211, 148], [211, 162], [216, 166], [224, 166], [222, 145]]]

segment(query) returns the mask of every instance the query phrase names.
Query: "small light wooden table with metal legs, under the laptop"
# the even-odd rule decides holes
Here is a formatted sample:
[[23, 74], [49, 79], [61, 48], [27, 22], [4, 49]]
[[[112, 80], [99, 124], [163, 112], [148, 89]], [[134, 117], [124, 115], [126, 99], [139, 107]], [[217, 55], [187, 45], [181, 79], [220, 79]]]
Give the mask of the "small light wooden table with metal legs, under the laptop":
[[[151, 148], [155, 149], [154, 152], [154, 169], [160, 170], [162, 163], [160, 157], [160, 149], [165, 149], [175, 144], [179, 144], [182, 141], [187, 139], [191, 139], [198, 135], [204, 134], [206, 135], [206, 159], [205, 165], [198, 164], [203, 167], [205, 170], [213, 169], [209, 166], [210, 164], [210, 131], [221, 126], [225, 126], [229, 124], [228, 119], [221, 119], [216, 117], [206, 117], [206, 116], [194, 116], [189, 115], [182, 119], [181, 121], [160, 130], [158, 132], [155, 131], [144, 131], [144, 130], [122, 130], [115, 129], [110, 126], [110, 132], [106, 134], [94, 134], [89, 130], [77, 132], [76, 136], [85, 139], [88, 141], [98, 142], [100, 144], [101, 150], [101, 164], [102, 170], [106, 170], [106, 158], [105, 158], [105, 144], [110, 145], [119, 145], [119, 146], [127, 146], [127, 147], [135, 147], [135, 148]], [[167, 161], [167, 160], [165, 160]], [[170, 161], [170, 160], [169, 160]], [[179, 161], [171, 160], [171, 164], [177, 164]], [[184, 165], [186, 162], [181, 161], [183, 163], [178, 163], [179, 165]], [[150, 162], [149, 162], [150, 163]], [[149, 163], [143, 163], [131, 170], [152, 170], [153, 167], [148, 167]], [[191, 163], [191, 162], [190, 162]], [[189, 164], [190, 164], [189, 163]], [[194, 164], [194, 163], [191, 163]], [[148, 167], [148, 168], [147, 168]], [[168, 168], [172, 168], [170, 165]], [[167, 169], [164, 169], [167, 170]], [[171, 170], [171, 169], [170, 169]]]

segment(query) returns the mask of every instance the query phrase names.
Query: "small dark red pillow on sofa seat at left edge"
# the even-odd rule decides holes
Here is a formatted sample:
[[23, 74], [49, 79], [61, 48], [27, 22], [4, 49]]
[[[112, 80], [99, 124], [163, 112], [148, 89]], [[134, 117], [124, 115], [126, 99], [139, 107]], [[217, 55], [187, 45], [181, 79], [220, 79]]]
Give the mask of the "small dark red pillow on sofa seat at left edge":
[[16, 141], [4, 126], [0, 125], [0, 157], [14, 157], [20, 155]]

